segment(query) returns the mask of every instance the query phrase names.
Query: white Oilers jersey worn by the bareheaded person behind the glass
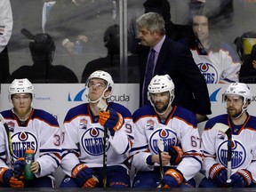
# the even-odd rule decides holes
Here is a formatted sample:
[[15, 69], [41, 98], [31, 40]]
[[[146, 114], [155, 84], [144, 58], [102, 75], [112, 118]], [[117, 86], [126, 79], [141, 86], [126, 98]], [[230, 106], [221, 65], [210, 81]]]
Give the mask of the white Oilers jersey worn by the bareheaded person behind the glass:
[[190, 49], [197, 67], [203, 74], [206, 84], [238, 82], [241, 68], [236, 52], [228, 44], [221, 44], [219, 52], [207, 51], [207, 55]]

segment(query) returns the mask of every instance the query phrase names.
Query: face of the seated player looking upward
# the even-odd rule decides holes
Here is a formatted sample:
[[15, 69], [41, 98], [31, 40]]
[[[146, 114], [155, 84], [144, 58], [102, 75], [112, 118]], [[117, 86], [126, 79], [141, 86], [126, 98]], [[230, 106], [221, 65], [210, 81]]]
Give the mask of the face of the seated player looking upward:
[[89, 86], [88, 96], [90, 100], [93, 101], [93, 100], [98, 100], [102, 96], [104, 90], [107, 87], [107, 84], [103, 79], [92, 78], [88, 86]]

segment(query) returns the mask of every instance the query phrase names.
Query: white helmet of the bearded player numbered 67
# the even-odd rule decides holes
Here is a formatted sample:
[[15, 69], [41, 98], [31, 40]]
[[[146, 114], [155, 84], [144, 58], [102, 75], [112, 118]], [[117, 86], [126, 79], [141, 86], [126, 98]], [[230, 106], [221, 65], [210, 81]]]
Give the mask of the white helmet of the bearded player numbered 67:
[[164, 76], [154, 76], [150, 83], [148, 84], [148, 100], [150, 100], [151, 105], [154, 107], [154, 104], [151, 100], [151, 93], [161, 93], [161, 92], [169, 92], [170, 93], [170, 101], [168, 107], [172, 104], [172, 100], [174, 100], [174, 84], [172, 82], [172, 78], [169, 75]]

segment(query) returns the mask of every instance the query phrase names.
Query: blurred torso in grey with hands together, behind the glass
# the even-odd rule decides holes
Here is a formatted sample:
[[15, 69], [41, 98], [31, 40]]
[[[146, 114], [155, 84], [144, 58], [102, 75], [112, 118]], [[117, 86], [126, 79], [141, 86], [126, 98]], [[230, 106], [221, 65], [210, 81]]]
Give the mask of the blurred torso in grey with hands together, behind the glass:
[[[56, 51], [71, 55], [95, 53], [102, 28], [111, 22], [106, 1], [58, 0], [47, 16], [45, 32], [56, 42]], [[111, 4], [109, 3], [109, 6]], [[99, 52], [99, 51], [98, 51]]]

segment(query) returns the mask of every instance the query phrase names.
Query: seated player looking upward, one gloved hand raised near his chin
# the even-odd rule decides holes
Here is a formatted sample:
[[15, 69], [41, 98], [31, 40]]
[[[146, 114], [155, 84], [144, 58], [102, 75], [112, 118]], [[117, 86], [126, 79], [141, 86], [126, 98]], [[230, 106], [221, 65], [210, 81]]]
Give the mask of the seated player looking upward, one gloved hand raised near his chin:
[[85, 84], [89, 102], [68, 110], [61, 161], [67, 175], [60, 188], [131, 188], [127, 163], [133, 142], [132, 114], [124, 106], [108, 102], [113, 86], [107, 72], [94, 71]]

